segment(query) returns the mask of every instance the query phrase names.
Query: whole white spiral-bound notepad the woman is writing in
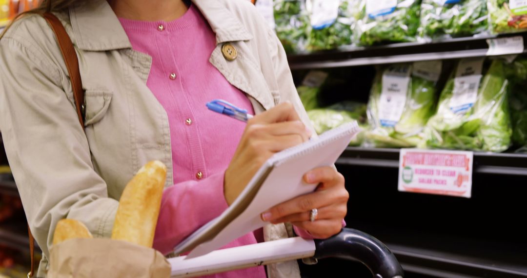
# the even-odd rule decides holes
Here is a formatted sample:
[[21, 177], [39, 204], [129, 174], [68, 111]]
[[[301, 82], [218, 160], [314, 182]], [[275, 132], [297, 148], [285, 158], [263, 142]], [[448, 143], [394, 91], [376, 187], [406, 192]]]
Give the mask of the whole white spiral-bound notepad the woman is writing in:
[[304, 174], [316, 167], [333, 165], [359, 131], [356, 122], [347, 123], [276, 153], [260, 167], [225, 212], [175, 246], [174, 253], [191, 251], [187, 259], [205, 255], [267, 225], [260, 214], [291, 198], [313, 192], [317, 184], [305, 183]]

